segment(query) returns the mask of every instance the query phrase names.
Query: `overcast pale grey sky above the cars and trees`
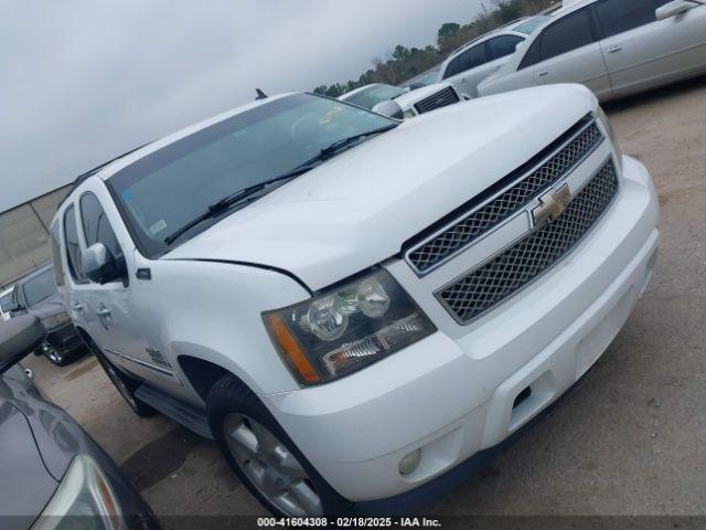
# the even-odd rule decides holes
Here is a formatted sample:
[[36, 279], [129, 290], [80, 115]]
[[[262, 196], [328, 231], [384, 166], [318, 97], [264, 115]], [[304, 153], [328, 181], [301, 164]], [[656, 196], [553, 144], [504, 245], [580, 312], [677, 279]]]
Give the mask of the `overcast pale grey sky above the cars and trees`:
[[[490, 2], [486, 2], [490, 3]], [[268, 94], [344, 82], [432, 44], [479, 0], [8, 0], [0, 212]]]

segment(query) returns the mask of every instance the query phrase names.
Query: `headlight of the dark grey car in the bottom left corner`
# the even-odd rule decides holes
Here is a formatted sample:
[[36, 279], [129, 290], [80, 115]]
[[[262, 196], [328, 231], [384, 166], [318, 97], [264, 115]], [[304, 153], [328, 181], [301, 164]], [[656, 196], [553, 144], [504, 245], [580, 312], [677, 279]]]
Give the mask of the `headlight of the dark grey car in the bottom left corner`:
[[32, 530], [117, 529], [121, 516], [98, 464], [88, 455], [78, 455]]

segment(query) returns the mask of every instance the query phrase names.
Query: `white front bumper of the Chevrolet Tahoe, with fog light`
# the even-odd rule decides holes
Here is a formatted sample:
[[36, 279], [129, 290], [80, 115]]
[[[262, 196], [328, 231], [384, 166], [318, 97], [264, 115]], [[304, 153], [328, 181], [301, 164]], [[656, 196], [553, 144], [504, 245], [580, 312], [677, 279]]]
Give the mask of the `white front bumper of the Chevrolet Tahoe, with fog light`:
[[[418, 488], [507, 439], [598, 360], [650, 280], [657, 221], [651, 177], [625, 157], [620, 191], [599, 223], [489, 317], [467, 328], [441, 324], [349, 378], [265, 401], [343, 497], [370, 501]], [[407, 265], [388, 265], [396, 276], [399, 267]], [[417, 448], [420, 464], [403, 477], [399, 460]]]

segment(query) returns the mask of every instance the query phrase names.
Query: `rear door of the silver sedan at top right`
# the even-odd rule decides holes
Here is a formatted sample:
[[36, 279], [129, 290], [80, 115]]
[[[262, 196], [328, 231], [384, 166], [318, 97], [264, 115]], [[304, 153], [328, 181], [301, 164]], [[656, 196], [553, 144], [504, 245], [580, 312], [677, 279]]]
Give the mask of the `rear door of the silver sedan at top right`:
[[539, 57], [534, 65], [537, 85], [581, 83], [599, 98], [612, 94], [590, 7], [561, 17], [546, 26], [539, 39]]

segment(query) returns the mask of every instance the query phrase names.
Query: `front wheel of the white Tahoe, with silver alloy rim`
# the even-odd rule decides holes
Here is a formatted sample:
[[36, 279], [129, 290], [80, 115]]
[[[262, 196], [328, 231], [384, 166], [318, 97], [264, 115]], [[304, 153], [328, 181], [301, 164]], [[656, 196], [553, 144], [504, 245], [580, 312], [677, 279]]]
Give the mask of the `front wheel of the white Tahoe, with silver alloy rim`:
[[[233, 375], [225, 375], [213, 385], [206, 399], [206, 415], [211, 432], [231, 469], [250, 494], [275, 516], [338, 516], [352, 511], [353, 504], [329, 486], [263, 402]], [[234, 425], [237, 425], [237, 428], [234, 430]], [[240, 447], [242, 444], [235, 441], [235, 435], [247, 430], [250, 431], [250, 435], [256, 436], [256, 445], [261, 453], [268, 454], [259, 455], [257, 453], [260, 451], [250, 452]], [[274, 447], [275, 443], [280, 445]], [[234, 449], [234, 446], [237, 447]], [[275, 459], [277, 462], [272, 463]], [[267, 469], [263, 474], [264, 478], [259, 479], [259, 485], [253, 478], [258, 476], [258, 469]], [[282, 489], [281, 494], [272, 492], [279, 491], [279, 488]], [[296, 491], [296, 495], [291, 491]], [[310, 502], [313, 499], [311, 492], [318, 497], [318, 504]], [[299, 502], [300, 498], [306, 500]], [[292, 499], [299, 502], [298, 507]]]

